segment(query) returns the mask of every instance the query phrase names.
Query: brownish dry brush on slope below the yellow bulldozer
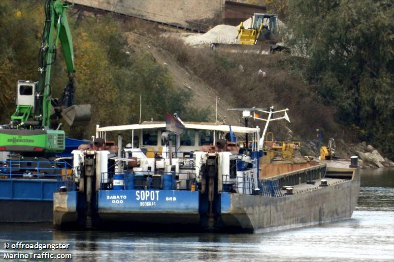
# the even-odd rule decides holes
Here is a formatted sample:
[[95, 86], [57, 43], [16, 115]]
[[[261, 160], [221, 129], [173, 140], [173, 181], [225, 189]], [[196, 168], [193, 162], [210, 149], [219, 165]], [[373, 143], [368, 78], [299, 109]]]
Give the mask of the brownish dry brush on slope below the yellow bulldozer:
[[[313, 87], [302, 81], [299, 58], [285, 54], [219, 53], [186, 46], [172, 37], [160, 38], [158, 46], [225, 99], [234, 101], [234, 106], [289, 108], [292, 123], [287, 126], [302, 138], [315, 139], [316, 128], [324, 128], [327, 137], [344, 135], [333, 120], [334, 110], [324, 106]], [[286, 136], [283, 125], [284, 122], [272, 125], [277, 136]]]

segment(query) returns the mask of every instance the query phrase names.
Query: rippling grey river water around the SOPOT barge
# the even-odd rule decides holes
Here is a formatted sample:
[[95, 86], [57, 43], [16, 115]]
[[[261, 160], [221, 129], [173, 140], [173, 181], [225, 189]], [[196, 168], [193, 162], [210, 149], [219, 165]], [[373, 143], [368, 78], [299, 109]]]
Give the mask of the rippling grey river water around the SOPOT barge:
[[[4, 243], [62, 243], [68, 249], [11, 250]], [[71, 254], [66, 261], [394, 261], [394, 170], [361, 173], [349, 220], [264, 234], [59, 232], [51, 224], [0, 225], [5, 252]], [[23, 261], [15, 259], [15, 261]], [[26, 259], [24, 261], [30, 261]], [[50, 261], [35, 259], [33, 261]]]

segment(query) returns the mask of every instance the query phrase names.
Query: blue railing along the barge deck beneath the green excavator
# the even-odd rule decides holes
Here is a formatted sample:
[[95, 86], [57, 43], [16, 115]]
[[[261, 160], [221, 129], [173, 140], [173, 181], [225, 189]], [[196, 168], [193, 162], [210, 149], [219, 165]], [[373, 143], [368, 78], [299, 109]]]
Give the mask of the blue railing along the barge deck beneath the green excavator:
[[0, 160], [0, 178], [58, 179], [68, 166], [65, 161]]

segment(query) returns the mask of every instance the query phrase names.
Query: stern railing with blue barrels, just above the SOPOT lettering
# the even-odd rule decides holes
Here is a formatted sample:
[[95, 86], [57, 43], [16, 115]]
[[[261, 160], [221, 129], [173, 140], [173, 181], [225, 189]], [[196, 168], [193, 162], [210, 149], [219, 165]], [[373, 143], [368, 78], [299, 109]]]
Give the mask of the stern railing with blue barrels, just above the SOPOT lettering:
[[197, 190], [194, 173], [169, 172], [157, 174], [152, 171], [123, 171], [101, 173], [101, 190]]

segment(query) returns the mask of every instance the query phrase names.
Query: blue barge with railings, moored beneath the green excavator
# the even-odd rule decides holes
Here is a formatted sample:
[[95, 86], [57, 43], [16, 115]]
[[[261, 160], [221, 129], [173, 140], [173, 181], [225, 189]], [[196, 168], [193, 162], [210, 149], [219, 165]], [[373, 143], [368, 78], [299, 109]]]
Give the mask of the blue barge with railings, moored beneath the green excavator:
[[0, 222], [52, 222], [53, 193], [71, 174], [71, 151], [85, 140], [66, 138], [65, 151], [22, 156], [0, 152]]

